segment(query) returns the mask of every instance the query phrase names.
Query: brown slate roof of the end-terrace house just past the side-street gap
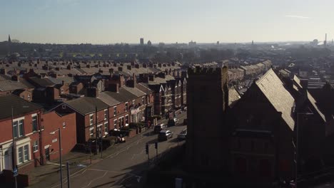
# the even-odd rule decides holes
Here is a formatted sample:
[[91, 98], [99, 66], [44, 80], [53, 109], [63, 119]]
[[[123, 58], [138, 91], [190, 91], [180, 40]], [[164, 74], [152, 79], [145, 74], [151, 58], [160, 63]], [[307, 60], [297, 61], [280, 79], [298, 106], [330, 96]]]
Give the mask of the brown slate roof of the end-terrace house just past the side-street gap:
[[98, 98], [82, 97], [64, 103], [82, 115], [94, 113], [95, 107], [98, 111], [108, 108], [108, 105]]

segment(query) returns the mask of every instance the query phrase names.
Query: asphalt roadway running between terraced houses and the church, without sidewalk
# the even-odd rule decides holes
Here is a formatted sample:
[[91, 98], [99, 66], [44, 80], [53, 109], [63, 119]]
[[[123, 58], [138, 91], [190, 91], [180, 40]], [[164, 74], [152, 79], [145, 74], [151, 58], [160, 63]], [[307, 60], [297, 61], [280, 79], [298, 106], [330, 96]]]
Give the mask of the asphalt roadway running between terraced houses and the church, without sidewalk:
[[[180, 125], [168, 127], [174, 132], [173, 138], [165, 142], [158, 142], [158, 154], [178, 145], [176, 136], [186, 126], [182, 125], [186, 112], [177, 115]], [[162, 122], [166, 122], [163, 120]], [[157, 135], [152, 130], [148, 130], [141, 135], [133, 137], [126, 143], [116, 145], [115, 152], [105, 159], [91, 164], [91, 166], [81, 169], [75, 174], [71, 174], [71, 187], [141, 187], [143, 175], [148, 168], [148, 156], [146, 155], [146, 143], [149, 145], [149, 156], [151, 160], [156, 156], [154, 143]], [[183, 141], [184, 142], [184, 141]], [[64, 171], [66, 177], [66, 171]], [[51, 180], [50, 180], [51, 181]], [[44, 182], [34, 184], [33, 187], [60, 187], [59, 182]], [[67, 180], [64, 178], [63, 187], [67, 187]]]

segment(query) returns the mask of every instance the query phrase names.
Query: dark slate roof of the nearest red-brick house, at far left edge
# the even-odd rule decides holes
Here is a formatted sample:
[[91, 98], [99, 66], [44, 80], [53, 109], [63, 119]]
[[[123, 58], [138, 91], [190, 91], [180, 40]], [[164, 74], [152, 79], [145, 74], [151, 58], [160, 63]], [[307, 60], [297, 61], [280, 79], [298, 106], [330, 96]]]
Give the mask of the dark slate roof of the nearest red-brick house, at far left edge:
[[0, 106], [0, 119], [11, 117], [11, 106], [13, 107], [14, 117], [33, 113], [34, 111], [41, 109], [41, 106], [11, 94], [0, 96]]

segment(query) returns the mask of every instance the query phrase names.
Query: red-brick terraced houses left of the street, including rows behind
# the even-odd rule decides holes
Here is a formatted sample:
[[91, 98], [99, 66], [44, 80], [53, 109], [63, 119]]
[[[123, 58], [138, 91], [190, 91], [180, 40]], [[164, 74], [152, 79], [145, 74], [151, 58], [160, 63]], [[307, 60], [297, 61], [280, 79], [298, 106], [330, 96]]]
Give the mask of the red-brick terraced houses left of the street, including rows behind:
[[58, 129], [66, 155], [92, 137], [131, 122], [151, 125], [152, 116], [173, 117], [186, 107], [187, 74], [175, 63], [173, 70], [172, 63], [126, 63], [126, 70], [120, 63], [63, 63], [1, 62], [2, 176], [16, 165], [24, 174], [59, 157]]

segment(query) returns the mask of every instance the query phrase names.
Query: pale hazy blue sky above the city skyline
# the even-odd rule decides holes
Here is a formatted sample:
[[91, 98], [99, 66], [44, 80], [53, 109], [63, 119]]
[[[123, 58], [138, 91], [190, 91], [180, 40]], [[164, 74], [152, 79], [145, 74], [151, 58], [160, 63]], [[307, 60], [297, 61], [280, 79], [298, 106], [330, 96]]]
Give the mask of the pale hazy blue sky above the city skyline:
[[0, 0], [0, 41], [239, 43], [334, 38], [333, 0]]

